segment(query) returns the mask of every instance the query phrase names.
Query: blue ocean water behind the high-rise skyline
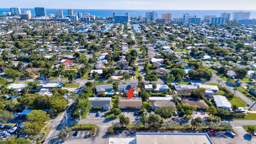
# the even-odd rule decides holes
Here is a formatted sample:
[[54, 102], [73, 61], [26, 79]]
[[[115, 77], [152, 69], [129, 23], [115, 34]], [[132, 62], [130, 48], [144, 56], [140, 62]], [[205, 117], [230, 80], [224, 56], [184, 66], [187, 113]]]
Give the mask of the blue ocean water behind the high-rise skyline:
[[[32, 15], [35, 15], [35, 9], [34, 8], [21, 8], [21, 10], [30, 10]], [[48, 14], [54, 14], [55, 9], [47, 9], [46, 13]], [[63, 15], [68, 15], [67, 9], [58, 9], [63, 10]], [[82, 9], [73, 9], [73, 12], [81, 12], [81, 13], [90, 13], [90, 15], [94, 14], [96, 17], [112, 17], [112, 12], [115, 11], [117, 16], [125, 15], [125, 12], [129, 12], [130, 17], [137, 17], [141, 15], [142, 17], [145, 17], [146, 12], [148, 11], [155, 11], [158, 13], [158, 18], [161, 18], [162, 13], [170, 13], [172, 14], [172, 18], [182, 18], [182, 15], [185, 13], [188, 13], [190, 15], [194, 15], [196, 17], [202, 17], [204, 15], [215, 15], [220, 16], [221, 13], [231, 13], [232, 12], [238, 12], [241, 10], [82, 10]], [[251, 12], [250, 18], [256, 18], [256, 10], [242, 10], [243, 12]], [[0, 14], [2, 12], [10, 12], [10, 8], [0, 8]]]

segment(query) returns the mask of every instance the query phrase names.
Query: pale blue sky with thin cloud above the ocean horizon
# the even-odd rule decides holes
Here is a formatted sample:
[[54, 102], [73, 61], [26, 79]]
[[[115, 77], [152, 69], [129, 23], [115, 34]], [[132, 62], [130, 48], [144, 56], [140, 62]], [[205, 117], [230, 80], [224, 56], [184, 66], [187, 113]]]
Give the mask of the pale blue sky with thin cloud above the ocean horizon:
[[0, 0], [0, 8], [256, 10], [256, 0]]

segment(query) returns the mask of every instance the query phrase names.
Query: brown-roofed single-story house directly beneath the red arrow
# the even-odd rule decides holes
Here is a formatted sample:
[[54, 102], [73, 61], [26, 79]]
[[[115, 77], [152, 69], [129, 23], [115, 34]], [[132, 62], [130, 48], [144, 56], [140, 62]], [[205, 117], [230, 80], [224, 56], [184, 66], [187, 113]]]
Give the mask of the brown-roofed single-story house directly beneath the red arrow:
[[131, 99], [129, 99], [129, 98], [120, 97], [118, 108], [120, 108], [120, 109], [126, 109], [126, 108], [140, 109], [141, 105], [142, 105], [141, 98], [132, 97]]

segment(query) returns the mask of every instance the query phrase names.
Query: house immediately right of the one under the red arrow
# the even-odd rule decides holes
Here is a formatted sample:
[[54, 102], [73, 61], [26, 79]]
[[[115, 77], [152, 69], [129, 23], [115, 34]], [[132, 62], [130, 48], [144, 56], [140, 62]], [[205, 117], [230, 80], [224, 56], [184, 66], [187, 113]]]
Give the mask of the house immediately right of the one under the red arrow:
[[148, 98], [148, 101], [151, 103], [152, 109], [156, 109], [163, 106], [171, 106], [171, 105], [175, 106], [172, 100], [173, 100], [172, 96], [169, 96], [169, 97], [153, 96]]

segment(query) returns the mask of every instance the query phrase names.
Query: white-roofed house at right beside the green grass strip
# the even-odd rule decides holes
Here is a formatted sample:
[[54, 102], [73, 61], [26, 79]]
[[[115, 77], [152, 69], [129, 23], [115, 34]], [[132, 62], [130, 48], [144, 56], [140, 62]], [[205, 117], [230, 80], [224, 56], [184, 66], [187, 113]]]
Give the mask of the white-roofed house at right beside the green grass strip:
[[213, 98], [217, 108], [223, 108], [224, 110], [231, 109], [231, 103], [225, 96], [214, 95]]

